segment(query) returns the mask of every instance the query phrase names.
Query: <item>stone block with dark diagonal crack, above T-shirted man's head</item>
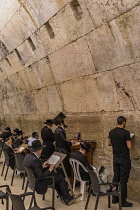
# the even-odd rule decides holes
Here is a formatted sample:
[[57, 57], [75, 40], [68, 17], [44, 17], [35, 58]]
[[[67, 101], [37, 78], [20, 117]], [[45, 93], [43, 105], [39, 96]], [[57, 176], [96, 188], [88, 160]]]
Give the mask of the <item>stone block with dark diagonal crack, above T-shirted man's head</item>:
[[120, 110], [140, 109], [140, 63], [113, 70]]

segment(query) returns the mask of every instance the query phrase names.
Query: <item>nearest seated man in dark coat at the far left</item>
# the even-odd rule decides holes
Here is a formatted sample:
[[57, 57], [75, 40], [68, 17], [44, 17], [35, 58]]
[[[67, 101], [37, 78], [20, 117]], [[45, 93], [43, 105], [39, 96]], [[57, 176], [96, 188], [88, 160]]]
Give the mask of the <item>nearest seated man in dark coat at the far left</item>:
[[15, 166], [15, 156], [14, 156], [14, 150], [12, 147], [13, 143], [13, 137], [12, 135], [5, 140], [5, 145], [3, 147], [3, 150], [5, 150], [8, 153], [9, 156], [9, 166], [12, 170], [14, 170]]

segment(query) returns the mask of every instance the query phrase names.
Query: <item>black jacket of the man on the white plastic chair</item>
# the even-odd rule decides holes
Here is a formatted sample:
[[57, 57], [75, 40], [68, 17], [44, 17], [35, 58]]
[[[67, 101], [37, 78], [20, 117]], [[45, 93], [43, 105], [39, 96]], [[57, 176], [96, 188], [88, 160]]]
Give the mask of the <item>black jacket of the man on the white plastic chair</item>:
[[[71, 158], [78, 160], [81, 162], [87, 170], [93, 170], [90, 163], [87, 160], [87, 157], [83, 155], [80, 151], [74, 152], [71, 154]], [[85, 172], [80, 166], [80, 175], [83, 180], [90, 180], [90, 176], [88, 172]]]

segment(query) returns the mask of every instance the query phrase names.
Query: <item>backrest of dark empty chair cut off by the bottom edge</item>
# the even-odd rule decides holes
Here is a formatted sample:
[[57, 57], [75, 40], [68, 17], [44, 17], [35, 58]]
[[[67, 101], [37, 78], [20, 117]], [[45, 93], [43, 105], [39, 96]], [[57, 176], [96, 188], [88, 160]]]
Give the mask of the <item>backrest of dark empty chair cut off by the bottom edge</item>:
[[19, 196], [19, 195], [14, 195], [14, 194], [11, 194], [11, 193], [8, 193], [9, 196], [10, 196], [10, 199], [12, 201], [12, 210], [25, 210], [25, 206], [24, 206], [24, 203], [23, 203], [23, 200], [22, 198]]

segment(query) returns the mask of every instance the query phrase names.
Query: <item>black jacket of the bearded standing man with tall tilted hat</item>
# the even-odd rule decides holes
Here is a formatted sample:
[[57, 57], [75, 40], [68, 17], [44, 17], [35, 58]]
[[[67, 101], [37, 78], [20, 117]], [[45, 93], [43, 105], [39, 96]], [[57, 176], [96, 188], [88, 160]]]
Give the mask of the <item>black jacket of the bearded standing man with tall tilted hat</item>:
[[66, 140], [65, 130], [62, 127], [58, 126], [58, 128], [55, 129], [54, 134], [55, 134], [56, 149], [62, 153], [63, 151], [64, 153], [70, 153], [70, 147], [72, 146], [72, 143]]

